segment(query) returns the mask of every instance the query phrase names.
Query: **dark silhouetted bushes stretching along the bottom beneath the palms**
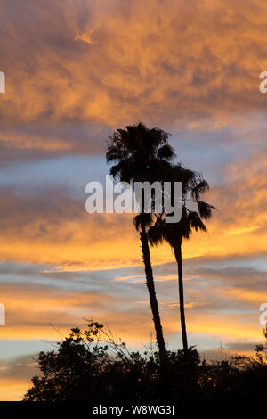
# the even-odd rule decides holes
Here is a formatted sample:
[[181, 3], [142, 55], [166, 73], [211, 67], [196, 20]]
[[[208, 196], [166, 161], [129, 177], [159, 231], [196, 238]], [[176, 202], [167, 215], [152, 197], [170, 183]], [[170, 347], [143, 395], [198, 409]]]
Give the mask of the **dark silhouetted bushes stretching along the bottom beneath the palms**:
[[264, 349], [255, 357], [207, 363], [190, 348], [168, 352], [129, 352], [103, 325], [91, 322], [85, 332], [72, 329], [58, 350], [40, 352], [41, 377], [34, 376], [25, 401], [144, 403], [267, 399]]

